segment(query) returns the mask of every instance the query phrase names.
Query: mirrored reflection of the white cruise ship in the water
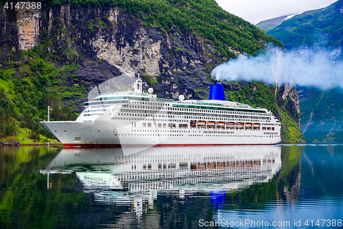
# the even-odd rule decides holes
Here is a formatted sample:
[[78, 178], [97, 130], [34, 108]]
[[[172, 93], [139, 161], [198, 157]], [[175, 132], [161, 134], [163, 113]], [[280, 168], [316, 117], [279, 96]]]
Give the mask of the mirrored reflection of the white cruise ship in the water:
[[[158, 192], [180, 199], [268, 182], [281, 169], [280, 146], [158, 147], [127, 155], [121, 149], [63, 149], [41, 173], [75, 172], [97, 201], [153, 208]], [[139, 211], [139, 210], [138, 210]]]

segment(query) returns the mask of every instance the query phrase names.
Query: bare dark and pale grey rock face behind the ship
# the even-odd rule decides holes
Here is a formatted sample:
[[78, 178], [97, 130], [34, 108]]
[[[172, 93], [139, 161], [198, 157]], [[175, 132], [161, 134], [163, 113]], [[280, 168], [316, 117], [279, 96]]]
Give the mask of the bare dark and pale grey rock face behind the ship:
[[[158, 26], [143, 25], [140, 17], [120, 8], [86, 8], [84, 6], [54, 6], [44, 10], [2, 10], [0, 15], [1, 54], [3, 67], [17, 69], [21, 77], [22, 59], [29, 60], [23, 50], [39, 45], [55, 67], [73, 65], [68, 74], [61, 74], [62, 88], [82, 87], [84, 94], [65, 94], [64, 101], [77, 103], [82, 111], [86, 94], [99, 83], [121, 74], [141, 74], [163, 98], [206, 98], [213, 67], [228, 61], [209, 39], [195, 32], [185, 32], [172, 26], [169, 31]], [[263, 43], [259, 37], [256, 37]], [[228, 47], [235, 54], [239, 50]], [[24, 56], [24, 58], [23, 58]], [[237, 88], [226, 83], [226, 90]], [[53, 83], [54, 86], [54, 83]], [[277, 95], [276, 95], [277, 94]], [[298, 123], [296, 89], [281, 87], [275, 97], [278, 106], [287, 103], [286, 112]]]

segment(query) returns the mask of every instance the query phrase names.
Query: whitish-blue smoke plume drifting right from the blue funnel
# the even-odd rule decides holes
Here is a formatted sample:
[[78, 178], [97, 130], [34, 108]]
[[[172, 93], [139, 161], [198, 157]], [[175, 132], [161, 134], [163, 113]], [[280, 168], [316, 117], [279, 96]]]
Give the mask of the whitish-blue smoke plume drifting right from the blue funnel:
[[343, 89], [343, 62], [332, 60], [332, 54], [325, 50], [283, 52], [279, 47], [268, 47], [258, 56], [239, 56], [215, 67], [211, 76], [226, 81], [255, 80], [277, 85]]

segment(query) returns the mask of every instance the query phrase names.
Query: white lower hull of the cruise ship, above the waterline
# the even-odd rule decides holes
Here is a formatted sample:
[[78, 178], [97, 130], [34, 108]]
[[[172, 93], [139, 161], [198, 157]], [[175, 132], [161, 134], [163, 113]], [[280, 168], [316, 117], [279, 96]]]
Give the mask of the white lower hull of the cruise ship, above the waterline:
[[[136, 121], [136, 128], [132, 127], [131, 120], [42, 123], [62, 144], [73, 147], [279, 144], [281, 142], [280, 135], [265, 135], [265, 131], [139, 128], [143, 122], [149, 120]], [[154, 120], [150, 122], [158, 123]], [[178, 126], [181, 122], [174, 123]]]

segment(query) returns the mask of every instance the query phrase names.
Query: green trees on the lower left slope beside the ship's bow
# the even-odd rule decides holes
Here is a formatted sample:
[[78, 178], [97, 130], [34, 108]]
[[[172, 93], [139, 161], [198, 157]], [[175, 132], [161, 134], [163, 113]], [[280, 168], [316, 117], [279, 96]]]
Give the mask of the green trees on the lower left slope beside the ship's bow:
[[[66, 74], [63, 67], [48, 64], [40, 46], [21, 52], [22, 64], [16, 69], [0, 69], [0, 139], [16, 136], [25, 143], [51, 142], [53, 136], [40, 124], [47, 120], [47, 107], [52, 107], [50, 120], [75, 120], [73, 107], [60, 102], [62, 96], [58, 75]], [[25, 59], [27, 61], [25, 61]], [[70, 91], [69, 93], [72, 93]], [[42, 138], [45, 136], [44, 138]], [[1, 140], [8, 142], [8, 140]]]

